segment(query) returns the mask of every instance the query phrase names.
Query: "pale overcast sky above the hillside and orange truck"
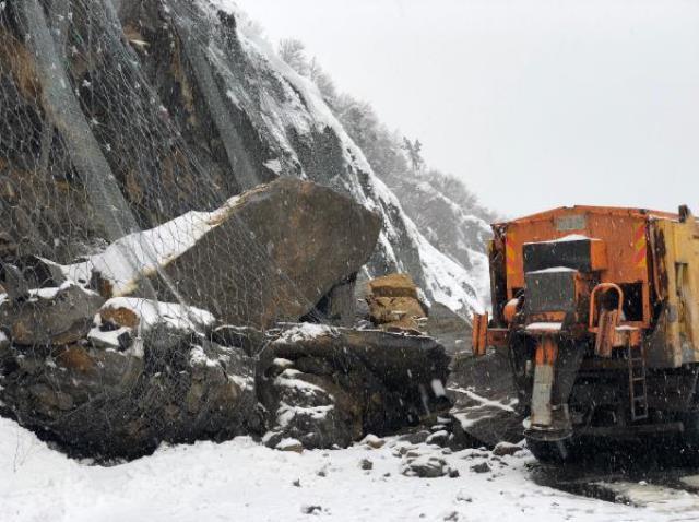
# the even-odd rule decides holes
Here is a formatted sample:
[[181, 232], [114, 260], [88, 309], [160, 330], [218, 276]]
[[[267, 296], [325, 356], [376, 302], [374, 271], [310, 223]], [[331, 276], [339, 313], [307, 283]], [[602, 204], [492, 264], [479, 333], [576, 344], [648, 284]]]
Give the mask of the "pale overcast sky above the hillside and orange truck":
[[699, 214], [699, 0], [237, 0], [514, 216]]

